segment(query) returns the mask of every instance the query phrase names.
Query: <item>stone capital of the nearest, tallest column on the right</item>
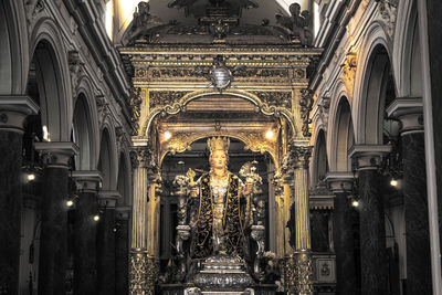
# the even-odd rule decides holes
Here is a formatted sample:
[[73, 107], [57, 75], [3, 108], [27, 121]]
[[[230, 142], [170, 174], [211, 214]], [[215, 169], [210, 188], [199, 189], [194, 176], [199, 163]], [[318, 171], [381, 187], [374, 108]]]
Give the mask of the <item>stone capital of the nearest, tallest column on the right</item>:
[[422, 97], [397, 97], [386, 112], [388, 117], [400, 120], [401, 135], [423, 131]]

